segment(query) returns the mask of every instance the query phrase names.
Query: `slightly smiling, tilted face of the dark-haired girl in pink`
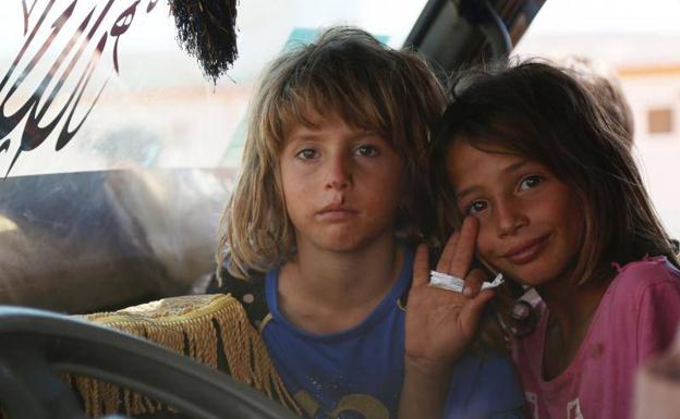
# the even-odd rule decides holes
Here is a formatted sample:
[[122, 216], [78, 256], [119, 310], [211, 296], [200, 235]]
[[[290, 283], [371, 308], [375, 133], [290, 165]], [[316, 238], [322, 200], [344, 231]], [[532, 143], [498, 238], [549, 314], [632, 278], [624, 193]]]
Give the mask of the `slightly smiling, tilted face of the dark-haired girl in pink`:
[[460, 211], [479, 220], [479, 256], [525, 285], [566, 279], [585, 227], [576, 194], [545, 165], [491, 151], [456, 138], [446, 160]]

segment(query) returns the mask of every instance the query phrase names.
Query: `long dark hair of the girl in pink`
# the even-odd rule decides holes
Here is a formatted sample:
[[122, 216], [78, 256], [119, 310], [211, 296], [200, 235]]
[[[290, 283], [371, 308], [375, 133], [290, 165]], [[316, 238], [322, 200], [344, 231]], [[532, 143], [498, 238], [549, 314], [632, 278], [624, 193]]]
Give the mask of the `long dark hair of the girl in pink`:
[[451, 95], [430, 153], [441, 234], [462, 218], [446, 170], [446, 151], [462, 140], [479, 150], [500, 146], [525, 156], [570, 185], [585, 219], [574, 259], [579, 285], [610, 278], [611, 262], [645, 255], [665, 255], [678, 266], [624, 130], [567, 70], [541, 62], [470, 70], [458, 75]]

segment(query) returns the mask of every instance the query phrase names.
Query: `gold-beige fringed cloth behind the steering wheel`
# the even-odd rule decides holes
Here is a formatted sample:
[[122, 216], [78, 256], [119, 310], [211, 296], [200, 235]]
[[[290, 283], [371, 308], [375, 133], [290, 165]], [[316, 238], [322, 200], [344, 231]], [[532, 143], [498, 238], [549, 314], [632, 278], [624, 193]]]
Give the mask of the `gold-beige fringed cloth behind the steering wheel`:
[[[230, 374], [282, 403], [300, 409], [283, 386], [267, 348], [251, 325], [241, 304], [230, 295], [191, 295], [165, 298], [85, 319], [156, 342], [212, 368], [218, 366], [221, 342]], [[80, 375], [64, 379], [77, 391], [88, 416], [113, 412], [127, 416], [167, 409], [129, 390]]]

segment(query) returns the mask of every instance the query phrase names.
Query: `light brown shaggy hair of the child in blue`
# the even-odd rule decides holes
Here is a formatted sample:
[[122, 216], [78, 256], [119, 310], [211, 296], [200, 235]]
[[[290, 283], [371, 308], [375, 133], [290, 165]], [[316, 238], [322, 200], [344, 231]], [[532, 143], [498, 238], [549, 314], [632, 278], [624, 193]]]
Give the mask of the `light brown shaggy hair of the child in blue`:
[[406, 168], [397, 227], [418, 231], [423, 211], [414, 194], [444, 104], [444, 89], [420, 57], [357, 28], [328, 29], [275, 60], [251, 103], [241, 174], [222, 215], [218, 275], [226, 264], [230, 274], [245, 279], [248, 270], [266, 271], [294, 255], [279, 152], [296, 124], [316, 126], [316, 116], [337, 115], [391, 143]]

